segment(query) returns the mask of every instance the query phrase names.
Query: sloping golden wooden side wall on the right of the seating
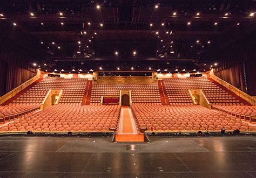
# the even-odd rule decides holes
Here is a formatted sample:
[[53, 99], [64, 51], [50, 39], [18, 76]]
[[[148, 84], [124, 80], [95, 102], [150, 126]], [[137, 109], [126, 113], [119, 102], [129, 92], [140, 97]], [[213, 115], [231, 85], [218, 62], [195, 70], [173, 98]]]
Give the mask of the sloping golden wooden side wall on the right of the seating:
[[228, 90], [234, 92], [235, 95], [238, 95], [239, 97], [245, 99], [247, 102], [251, 103], [252, 105], [256, 105], [256, 96], [250, 96], [246, 94], [244, 91], [239, 90], [237, 87], [232, 86], [232, 84], [227, 83], [226, 81], [220, 79], [219, 77], [215, 75], [210, 75], [211, 79], [221, 84], [221, 86], [224, 86]]

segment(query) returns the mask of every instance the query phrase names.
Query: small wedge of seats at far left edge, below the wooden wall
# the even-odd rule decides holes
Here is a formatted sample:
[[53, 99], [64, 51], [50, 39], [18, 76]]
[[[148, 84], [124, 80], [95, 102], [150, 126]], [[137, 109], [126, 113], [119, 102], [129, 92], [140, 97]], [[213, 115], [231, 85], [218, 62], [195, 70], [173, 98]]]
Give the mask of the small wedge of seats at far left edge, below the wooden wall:
[[8, 104], [0, 106], [0, 122], [8, 122], [20, 118], [32, 111], [39, 109], [38, 104]]

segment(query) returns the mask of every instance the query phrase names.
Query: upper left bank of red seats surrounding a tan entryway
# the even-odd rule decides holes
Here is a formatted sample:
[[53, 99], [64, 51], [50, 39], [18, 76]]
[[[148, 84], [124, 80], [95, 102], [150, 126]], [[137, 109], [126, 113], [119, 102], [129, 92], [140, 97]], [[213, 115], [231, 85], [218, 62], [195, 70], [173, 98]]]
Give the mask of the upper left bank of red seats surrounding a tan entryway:
[[59, 103], [80, 103], [86, 90], [87, 79], [45, 78], [33, 86], [14, 103], [42, 103], [50, 89], [62, 89], [63, 94]]

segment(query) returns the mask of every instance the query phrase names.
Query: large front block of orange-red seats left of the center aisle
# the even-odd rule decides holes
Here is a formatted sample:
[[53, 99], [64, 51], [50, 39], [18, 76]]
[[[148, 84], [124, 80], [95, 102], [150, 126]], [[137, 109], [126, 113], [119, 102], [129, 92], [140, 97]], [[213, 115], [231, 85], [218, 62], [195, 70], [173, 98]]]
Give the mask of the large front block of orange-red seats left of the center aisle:
[[109, 131], [117, 129], [118, 105], [58, 104], [23, 116], [1, 131]]

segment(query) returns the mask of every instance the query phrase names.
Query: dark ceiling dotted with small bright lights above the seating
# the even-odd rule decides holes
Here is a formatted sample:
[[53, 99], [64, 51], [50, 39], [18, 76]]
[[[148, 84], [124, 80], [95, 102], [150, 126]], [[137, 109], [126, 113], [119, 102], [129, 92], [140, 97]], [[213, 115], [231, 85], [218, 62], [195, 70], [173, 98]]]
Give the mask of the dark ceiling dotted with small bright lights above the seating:
[[253, 0], [1, 1], [0, 32], [48, 70], [204, 70], [255, 30], [254, 12]]

